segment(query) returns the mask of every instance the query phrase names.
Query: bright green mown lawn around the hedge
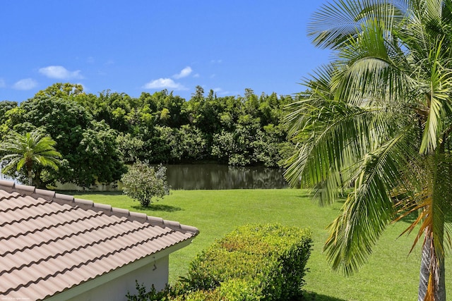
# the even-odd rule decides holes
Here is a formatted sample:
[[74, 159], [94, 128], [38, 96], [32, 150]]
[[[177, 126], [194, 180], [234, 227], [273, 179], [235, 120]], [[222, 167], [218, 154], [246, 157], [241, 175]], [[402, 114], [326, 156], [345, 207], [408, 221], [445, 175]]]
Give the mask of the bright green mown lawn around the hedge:
[[[236, 226], [245, 223], [282, 223], [309, 227], [313, 232], [314, 250], [307, 274], [307, 300], [415, 300], [419, 281], [420, 247], [408, 256], [414, 235], [398, 235], [408, 223], [388, 227], [379, 240], [368, 264], [357, 274], [342, 276], [331, 270], [322, 252], [327, 238], [326, 226], [338, 215], [341, 202], [319, 207], [302, 190], [174, 190], [160, 202], [141, 209], [138, 202], [115, 192], [88, 194], [74, 192], [76, 197], [113, 207], [145, 212], [163, 219], [196, 226], [200, 234], [188, 247], [169, 258], [169, 281], [183, 276], [189, 262], [215, 239], [222, 238]], [[452, 260], [446, 258], [446, 271], [452, 271]], [[452, 282], [446, 281], [451, 291]]]

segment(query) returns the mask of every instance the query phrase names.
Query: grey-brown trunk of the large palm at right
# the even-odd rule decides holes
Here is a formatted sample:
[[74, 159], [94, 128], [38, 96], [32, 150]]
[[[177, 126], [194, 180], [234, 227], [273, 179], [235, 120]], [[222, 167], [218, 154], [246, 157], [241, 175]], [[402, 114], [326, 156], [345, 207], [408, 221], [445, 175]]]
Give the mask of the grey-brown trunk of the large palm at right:
[[[446, 301], [446, 270], [444, 268], [444, 258], [437, 259], [436, 256], [432, 257], [434, 249], [432, 237], [429, 235], [429, 229], [426, 229], [424, 234], [425, 242], [422, 247], [420, 282], [417, 300]], [[439, 277], [438, 287], [435, 287], [433, 283], [429, 283], [430, 281], [434, 281], [435, 277]], [[433, 288], [435, 289], [432, 294], [429, 293], [429, 285], [433, 285]]]

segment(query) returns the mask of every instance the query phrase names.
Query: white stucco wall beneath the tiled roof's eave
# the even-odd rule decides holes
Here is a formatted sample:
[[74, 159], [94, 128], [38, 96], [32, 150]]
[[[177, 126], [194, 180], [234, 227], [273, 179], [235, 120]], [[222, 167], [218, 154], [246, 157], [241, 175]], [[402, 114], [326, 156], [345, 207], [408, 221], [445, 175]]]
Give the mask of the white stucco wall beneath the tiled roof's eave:
[[136, 294], [135, 280], [140, 284], [144, 283], [147, 290], [149, 290], [151, 285], [154, 285], [156, 290], [162, 290], [168, 282], [168, 264], [168, 256], [165, 256], [155, 262], [156, 269], [154, 262], [151, 262], [129, 274], [125, 274], [104, 285], [88, 290], [77, 297], [73, 297], [69, 301], [127, 300], [126, 294], [128, 291], [132, 295]]

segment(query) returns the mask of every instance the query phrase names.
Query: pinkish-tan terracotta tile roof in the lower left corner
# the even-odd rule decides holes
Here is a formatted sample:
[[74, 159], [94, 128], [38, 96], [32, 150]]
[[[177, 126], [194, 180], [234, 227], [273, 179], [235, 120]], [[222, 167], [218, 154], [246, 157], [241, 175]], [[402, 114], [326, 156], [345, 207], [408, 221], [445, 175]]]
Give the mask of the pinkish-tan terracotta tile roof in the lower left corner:
[[197, 234], [174, 221], [0, 180], [0, 299], [43, 299]]

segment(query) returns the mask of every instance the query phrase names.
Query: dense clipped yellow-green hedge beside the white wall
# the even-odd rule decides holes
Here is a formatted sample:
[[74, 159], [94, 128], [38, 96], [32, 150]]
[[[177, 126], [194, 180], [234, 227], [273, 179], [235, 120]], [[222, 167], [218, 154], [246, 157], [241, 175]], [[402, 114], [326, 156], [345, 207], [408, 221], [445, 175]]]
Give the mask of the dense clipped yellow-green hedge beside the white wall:
[[174, 297], [168, 300], [301, 297], [311, 243], [307, 229], [279, 224], [241, 226], [198, 254], [188, 276], [169, 290]]

